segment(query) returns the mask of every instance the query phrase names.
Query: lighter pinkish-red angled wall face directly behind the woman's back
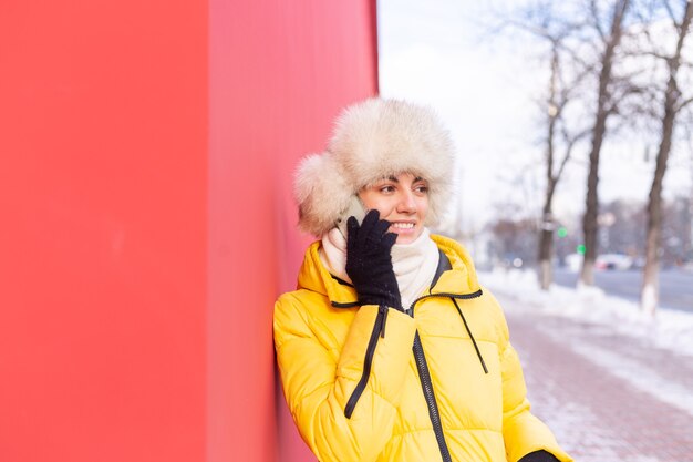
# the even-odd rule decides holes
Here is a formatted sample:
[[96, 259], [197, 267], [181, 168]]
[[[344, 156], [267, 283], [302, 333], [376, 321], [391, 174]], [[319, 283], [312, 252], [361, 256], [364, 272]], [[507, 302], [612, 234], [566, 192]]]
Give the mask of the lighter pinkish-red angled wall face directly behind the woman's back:
[[272, 307], [310, 240], [296, 229], [297, 161], [324, 148], [343, 105], [377, 90], [374, 12], [371, 0], [242, 12], [210, 0], [210, 462], [314, 460], [275, 394]]

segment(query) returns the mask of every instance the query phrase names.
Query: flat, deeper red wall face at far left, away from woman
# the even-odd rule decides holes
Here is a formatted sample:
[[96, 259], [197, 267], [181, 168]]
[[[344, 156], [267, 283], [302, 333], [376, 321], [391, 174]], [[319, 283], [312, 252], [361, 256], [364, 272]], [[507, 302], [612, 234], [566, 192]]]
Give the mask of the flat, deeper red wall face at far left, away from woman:
[[201, 461], [205, 2], [0, 4], [0, 460]]

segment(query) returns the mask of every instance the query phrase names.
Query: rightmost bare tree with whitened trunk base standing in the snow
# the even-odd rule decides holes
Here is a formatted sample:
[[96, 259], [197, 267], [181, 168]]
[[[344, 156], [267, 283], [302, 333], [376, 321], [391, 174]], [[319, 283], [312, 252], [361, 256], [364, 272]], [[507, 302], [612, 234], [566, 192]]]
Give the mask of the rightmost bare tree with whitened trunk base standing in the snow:
[[693, 97], [685, 99], [679, 88], [678, 78], [682, 65], [682, 50], [686, 35], [690, 30], [691, 19], [693, 18], [693, 3], [691, 0], [683, 0], [682, 18], [675, 18], [675, 10], [670, 1], [663, 0], [663, 6], [668, 11], [671, 21], [676, 30], [676, 48], [670, 55], [653, 53], [656, 58], [663, 59], [666, 63], [669, 78], [663, 97], [663, 113], [661, 119], [661, 137], [659, 150], [656, 153], [656, 164], [654, 167], [654, 176], [648, 202], [648, 227], [645, 239], [645, 265], [642, 273], [642, 290], [641, 307], [642, 309], [654, 316], [659, 304], [659, 267], [660, 267], [660, 248], [662, 236], [662, 185], [664, 174], [666, 173], [666, 163], [671, 153], [673, 133], [676, 115], [687, 104], [693, 102]]

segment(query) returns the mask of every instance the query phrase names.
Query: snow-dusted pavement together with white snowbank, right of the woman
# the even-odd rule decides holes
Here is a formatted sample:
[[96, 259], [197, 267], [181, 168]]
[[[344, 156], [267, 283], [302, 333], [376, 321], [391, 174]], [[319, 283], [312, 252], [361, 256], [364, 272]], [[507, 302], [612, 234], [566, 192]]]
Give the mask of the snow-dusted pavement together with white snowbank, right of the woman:
[[693, 451], [693, 314], [600, 289], [479, 273], [506, 311], [534, 412], [576, 462], [681, 462]]

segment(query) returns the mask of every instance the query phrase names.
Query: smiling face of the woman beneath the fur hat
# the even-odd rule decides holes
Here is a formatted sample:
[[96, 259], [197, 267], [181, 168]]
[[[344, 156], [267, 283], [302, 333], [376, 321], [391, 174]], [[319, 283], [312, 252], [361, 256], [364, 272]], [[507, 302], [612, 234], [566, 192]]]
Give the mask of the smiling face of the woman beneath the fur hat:
[[365, 208], [377, 209], [380, 218], [392, 224], [389, 230], [397, 235], [397, 244], [412, 243], [423, 233], [428, 212], [425, 179], [403, 173], [361, 189], [359, 197]]

